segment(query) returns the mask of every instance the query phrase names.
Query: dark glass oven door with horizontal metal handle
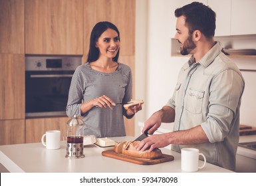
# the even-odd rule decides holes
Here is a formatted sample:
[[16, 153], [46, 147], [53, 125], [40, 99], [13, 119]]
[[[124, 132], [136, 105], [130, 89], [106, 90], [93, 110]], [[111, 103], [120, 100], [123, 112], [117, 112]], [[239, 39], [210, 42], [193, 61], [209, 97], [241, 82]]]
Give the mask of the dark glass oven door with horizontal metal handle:
[[66, 116], [66, 103], [74, 71], [27, 71], [26, 118]]

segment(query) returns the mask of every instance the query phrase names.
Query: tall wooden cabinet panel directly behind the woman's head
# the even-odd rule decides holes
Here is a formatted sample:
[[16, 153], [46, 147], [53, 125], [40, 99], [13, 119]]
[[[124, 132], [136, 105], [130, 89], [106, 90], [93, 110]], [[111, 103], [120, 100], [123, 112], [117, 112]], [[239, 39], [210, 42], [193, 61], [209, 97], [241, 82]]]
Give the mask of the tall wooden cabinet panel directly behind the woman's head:
[[120, 54], [135, 54], [135, 1], [84, 1], [84, 54], [88, 54], [90, 32], [99, 21], [110, 21], [120, 31]]

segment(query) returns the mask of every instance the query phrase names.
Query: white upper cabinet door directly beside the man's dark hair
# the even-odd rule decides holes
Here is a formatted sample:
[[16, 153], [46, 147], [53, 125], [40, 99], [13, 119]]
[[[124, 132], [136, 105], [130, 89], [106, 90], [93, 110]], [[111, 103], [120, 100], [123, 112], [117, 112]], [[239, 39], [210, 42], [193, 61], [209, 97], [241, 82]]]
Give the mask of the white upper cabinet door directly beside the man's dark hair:
[[231, 0], [208, 0], [208, 5], [216, 13], [215, 36], [230, 35]]

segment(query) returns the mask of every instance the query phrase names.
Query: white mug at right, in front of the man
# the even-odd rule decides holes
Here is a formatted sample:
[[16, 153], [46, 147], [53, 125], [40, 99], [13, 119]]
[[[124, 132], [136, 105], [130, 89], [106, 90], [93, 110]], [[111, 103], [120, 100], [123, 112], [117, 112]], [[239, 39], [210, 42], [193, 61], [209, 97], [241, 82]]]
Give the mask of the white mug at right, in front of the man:
[[[199, 167], [199, 155], [203, 157], [203, 165]], [[182, 149], [182, 171], [195, 172], [202, 169], [206, 164], [206, 158], [203, 153], [199, 153], [199, 149], [183, 148]]]

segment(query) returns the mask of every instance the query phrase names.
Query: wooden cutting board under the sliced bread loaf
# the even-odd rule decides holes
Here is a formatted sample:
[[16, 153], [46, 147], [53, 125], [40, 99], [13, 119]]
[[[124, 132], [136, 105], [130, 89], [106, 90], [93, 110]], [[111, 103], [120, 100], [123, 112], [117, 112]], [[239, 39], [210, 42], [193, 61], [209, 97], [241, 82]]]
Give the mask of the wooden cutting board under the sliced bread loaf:
[[102, 151], [102, 155], [106, 157], [111, 157], [114, 159], [119, 159], [122, 161], [128, 161], [130, 163], [136, 163], [139, 165], [155, 165], [158, 163], [164, 163], [167, 161], [173, 161], [174, 156], [163, 154], [162, 157], [157, 159], [146, 159], [146, 158], [139, 158], [139, 157], [132, 157], [129, 155], [124, 155], [122, 153], [116, 153], [114, 150]]

